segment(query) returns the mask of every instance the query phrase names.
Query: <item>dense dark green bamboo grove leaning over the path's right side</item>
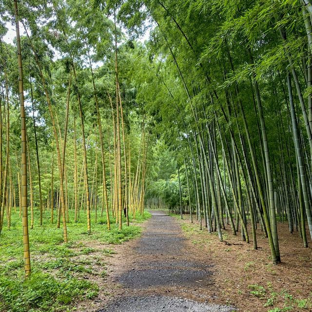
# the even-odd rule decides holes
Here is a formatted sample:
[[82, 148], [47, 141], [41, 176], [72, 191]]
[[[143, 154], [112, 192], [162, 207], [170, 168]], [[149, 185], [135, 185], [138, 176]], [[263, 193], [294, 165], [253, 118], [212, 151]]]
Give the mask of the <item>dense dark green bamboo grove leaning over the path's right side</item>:
[[308, 247], [311, 1], [120, 5], [133, 33], [146, 19], [155, 26], [146, 59], [135, 64], [144, 68], [137, 98], [176, 162], [170, 178], [151, 183], [147, 204], [194, 213], [221, 241], [228, 224], [254, 249], [259, 228], [274, 264], [279, 222]]

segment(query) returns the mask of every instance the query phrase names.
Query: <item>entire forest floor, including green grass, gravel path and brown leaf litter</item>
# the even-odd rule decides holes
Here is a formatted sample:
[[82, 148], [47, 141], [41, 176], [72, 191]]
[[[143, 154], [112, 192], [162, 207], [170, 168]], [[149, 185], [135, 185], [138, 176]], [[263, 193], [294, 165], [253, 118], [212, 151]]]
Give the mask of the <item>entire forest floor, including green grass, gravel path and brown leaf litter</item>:
[[152, 214], [147, 221], [149, 213], [137, 215], [122, 231], [112, 219], [110, 232], [100, 218], [92, 234], [81, 214], [68, 226], [67, 244], [45, 215], [44, 225], [35, 222], [30, 230], [32, 275], [26, 280], [20, 218], [14, 214], [11, 230], [0, 237], [0, 311], [312, 311], [312, 250], [286, 223], [278, 224], [282, 263], [274, 266], [259, 230], [254, 250], [229, 226], [219, 242], [189, 215], [180, 220]]

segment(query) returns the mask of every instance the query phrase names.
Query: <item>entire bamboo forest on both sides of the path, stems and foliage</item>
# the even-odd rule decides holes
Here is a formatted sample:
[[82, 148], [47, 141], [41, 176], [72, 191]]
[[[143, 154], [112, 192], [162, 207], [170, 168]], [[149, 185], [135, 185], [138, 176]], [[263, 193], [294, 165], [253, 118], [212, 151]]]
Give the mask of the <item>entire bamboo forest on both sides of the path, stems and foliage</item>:
[[280, 222], [308, 247], [312, 1], [6, 0], [0, 10], [0, 224], [22, 216], [26, 274], [27, 217], [35, 231], [46, 211], [64, 242], [81, 214], [88, 233], [102, 216], [109, 231], [110, 218], [121, 229], [145, 207], [189, 214], [220, 241], [229, 227], [254, 249], [260, 229], [274, 264]]

